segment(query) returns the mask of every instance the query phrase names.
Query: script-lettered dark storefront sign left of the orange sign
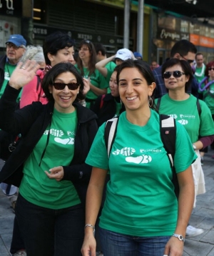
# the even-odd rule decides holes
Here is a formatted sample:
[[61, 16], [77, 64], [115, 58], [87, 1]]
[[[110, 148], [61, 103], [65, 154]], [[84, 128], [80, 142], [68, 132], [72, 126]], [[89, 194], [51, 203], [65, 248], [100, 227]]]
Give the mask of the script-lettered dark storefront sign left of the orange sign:
[[158, 29], [158, 39], [165, 39], [170, 41], [179, 41], [181, 39], [189, 40], [190, 36], [188, 33], [173, 31], [169, 29]]

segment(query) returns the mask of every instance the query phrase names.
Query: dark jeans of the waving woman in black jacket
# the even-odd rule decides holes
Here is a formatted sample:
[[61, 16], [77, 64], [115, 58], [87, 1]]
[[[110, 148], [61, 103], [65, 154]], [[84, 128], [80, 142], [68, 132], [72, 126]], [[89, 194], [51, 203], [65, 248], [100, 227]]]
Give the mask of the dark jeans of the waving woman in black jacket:
[[81, 204], [52, 210], [31, 204], [19, 194], [16, 218], [28, 256], [81, 256], [84, 236]]

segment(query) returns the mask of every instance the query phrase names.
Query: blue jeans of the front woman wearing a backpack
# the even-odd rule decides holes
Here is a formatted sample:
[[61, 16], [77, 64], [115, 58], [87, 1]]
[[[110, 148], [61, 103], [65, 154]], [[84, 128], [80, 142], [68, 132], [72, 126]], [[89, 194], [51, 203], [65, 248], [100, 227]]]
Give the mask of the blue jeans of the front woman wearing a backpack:
[[101, 245], [105, 256], [163, 256], [170, 236], [134, 237], [104, 230], [100, 227]]

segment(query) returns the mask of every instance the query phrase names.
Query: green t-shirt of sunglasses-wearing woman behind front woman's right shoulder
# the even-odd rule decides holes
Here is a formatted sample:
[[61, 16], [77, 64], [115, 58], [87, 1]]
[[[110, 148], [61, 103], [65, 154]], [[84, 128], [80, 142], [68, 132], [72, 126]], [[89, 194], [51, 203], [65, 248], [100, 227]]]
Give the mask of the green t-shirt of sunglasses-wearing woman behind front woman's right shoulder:
[[210, 109], [205, 102], [199, 100], [201, 108], [199, 117], [196, 102], [197, 99], [192, 94], [188, 99], [182, 101], [171, 99], [168, 94], [165, 94], [161, 98], [159, 108], [160, 114], [168, 114], [180, 124], [183, 124], [192, 143], [197, 142], [199, 137], [214, 134], [214, 123]]

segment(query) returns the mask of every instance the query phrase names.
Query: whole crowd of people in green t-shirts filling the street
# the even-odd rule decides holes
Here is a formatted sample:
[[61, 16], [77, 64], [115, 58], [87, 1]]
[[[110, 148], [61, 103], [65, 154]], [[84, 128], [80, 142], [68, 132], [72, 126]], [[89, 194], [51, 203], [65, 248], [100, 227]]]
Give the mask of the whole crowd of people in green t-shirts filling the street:
[[183, 255], [185, 237], [204, 232], [189, 219], [214, 147], [214, 61], [187, 40], [161, 66], [75, 47], [62, 32], [43, 47], [18, 34], [0, 59], [11, 255]]

